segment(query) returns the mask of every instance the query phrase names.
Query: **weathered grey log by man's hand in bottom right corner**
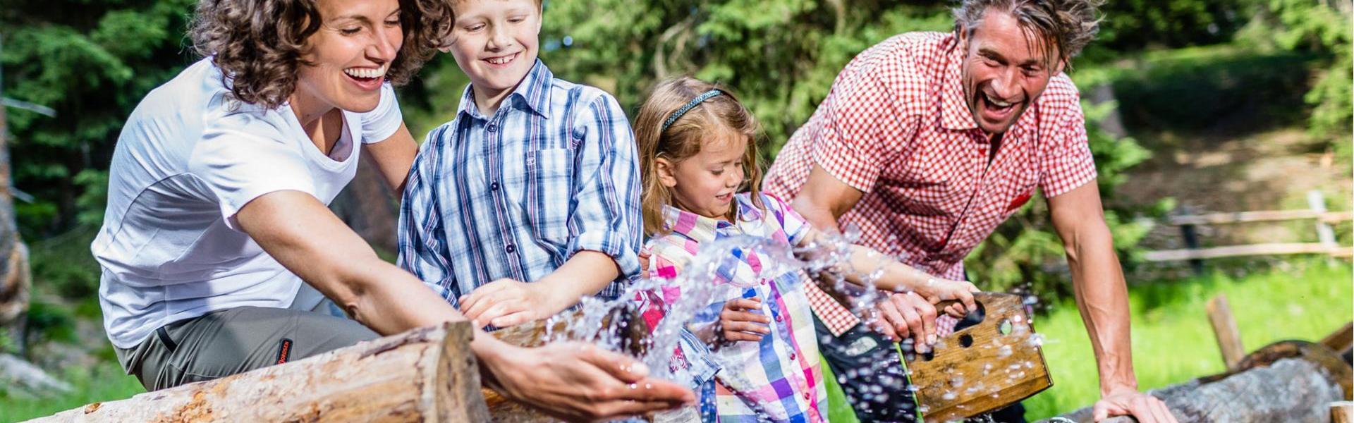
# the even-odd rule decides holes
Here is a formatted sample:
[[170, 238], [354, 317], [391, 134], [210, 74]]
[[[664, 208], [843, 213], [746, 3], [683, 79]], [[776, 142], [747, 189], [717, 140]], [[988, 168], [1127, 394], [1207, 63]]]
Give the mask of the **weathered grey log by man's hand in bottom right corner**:
[[[1346, 397], [1350, 367], [1330, 348], [1280, 342], [1251, 352], [1240, 369], [1151, 390], [1186, 422], [1330, 422], [1331, 403]], [[1091, 408], [1060, 416], [1094, 422]], [[1063, 422], [1051, 419], [1045, 422]], [[1128, 423], [1132, 418], [1104, 422]]]

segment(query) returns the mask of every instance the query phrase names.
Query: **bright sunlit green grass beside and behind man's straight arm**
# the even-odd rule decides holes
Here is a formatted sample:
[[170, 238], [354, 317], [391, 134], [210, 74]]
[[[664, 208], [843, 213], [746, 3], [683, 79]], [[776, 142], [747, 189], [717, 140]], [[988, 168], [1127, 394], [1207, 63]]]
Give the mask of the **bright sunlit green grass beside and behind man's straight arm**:
[[[1129, 289], [1133, 367], [1140, 388], [1162, 388], [1224, 370], [1204, 305], [1227, 294], [1247, 351], [1284, 339], [1319, 340], [1354, 315], [1349, 263], [1296, 262], [1290, 268], [1232, 278], [1213, 274]], [[1053, 388], [1025, 401], [1026, 418], [1043, 419], [1093, 404], [1099, 381], [1090, 340], [1070, 301], [1036, 317]]]

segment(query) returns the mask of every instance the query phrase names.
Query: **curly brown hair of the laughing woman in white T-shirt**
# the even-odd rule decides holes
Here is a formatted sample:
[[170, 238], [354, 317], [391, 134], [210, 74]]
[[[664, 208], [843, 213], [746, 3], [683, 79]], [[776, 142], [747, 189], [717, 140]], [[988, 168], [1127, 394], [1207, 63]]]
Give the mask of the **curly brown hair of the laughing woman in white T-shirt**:
[[[320, 30], [318, 0], [202, 0], [190, 28], [198, 54], [211, 57], [237, 100], [268, 108], [297, 88], [306, 39]], [[403, 45], [386, 72], [408, 83], [451, 31], [451, 3], [399, 0]]]

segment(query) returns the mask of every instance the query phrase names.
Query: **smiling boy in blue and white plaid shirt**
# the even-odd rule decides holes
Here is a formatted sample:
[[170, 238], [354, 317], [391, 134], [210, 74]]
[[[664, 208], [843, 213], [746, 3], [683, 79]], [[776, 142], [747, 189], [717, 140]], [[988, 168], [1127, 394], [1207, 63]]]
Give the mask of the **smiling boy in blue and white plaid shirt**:
[[[539, 0], [455, 1], [447, 46], [470, 77], [409, 174], [399, 266], [477, 325], [616, 297], [639, 273], [639, 171], [624, 111], [536, 58]], [[531, 283], [527, 283], [531, 282]]]

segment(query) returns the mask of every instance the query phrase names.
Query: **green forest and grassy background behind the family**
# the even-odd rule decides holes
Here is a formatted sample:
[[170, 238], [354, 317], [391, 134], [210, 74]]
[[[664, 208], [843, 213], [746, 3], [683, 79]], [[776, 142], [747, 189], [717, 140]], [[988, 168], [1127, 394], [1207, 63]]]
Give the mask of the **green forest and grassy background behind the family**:
[[[692, 75], [731, 87], [765, 126], [765, 165], [854, 54], [900, 33], [948, 31], [953, 5], [547, 0], [540, 56], [556, 76], [607, 89], [631, 114], [663, 77]], [[99, 267], [88, 245], [103, 218], [107, 167], [126, 117], [198, 58], [184, 35], [192, 7], [192, 0], [0, 0], [0, 92], [56, 111], [7, 113], [15, 214], [31, 249], [35, 294], [22, 335], [0, 334], [0, 352], [22, 352], [76, 385], [56, 399], [0, 386], [0, 420], [139, 392], [116, 369], [102, 334]], [[1257, 319], [1247, 328], [1239, 317], [1248, 347], [1320, 336], [1347, 320], [1349, 262], [1232, 259], [1196, 274], [1141, 254], [1181, 247], [1177, 229], [1159, 224], [1171, 213], [1304, 207], [1312, 190], [1330, 209], [1350, 210], [1350, 1], [1120, 0], [1102, 12], [1099, 35], [1070, 76], [1083, 94], [1106, 218], [1133, 291], [1144, 386], [1220, 370], [1196, 308], [1216, 293], [1229, 293], [1239, 313]], [[439, 54], [399, 89], [416, 138], [454, 117], [466, 83], [451, 57]], [[395, 198], [364, 175], [349, 190], [333, 209], [390, 256]], [[371, 195], [386, 201], [353, 201]], [[1036, 328], [1051, 339], [1055, 388], [1030, 400], [1029, 418], [1098, 395], [1047, 214], [1044, 202], [1030, 202], [965, 260], [984, 290], [1039, 298], [1037, 319], [1045, 323]], [[1216, 228], [1205, 230], [1205, 244], [1307, 241], [1309, 226]], [[1336, 226], [1342, 245], [1350, 230]], [[1274, 324], [1259, 320], [1273, 316], [1269, 308], [1292, 323], [1259, 328]], [[1201, 358], [1147, 347], [1173, 339], [1197, 343]]]

